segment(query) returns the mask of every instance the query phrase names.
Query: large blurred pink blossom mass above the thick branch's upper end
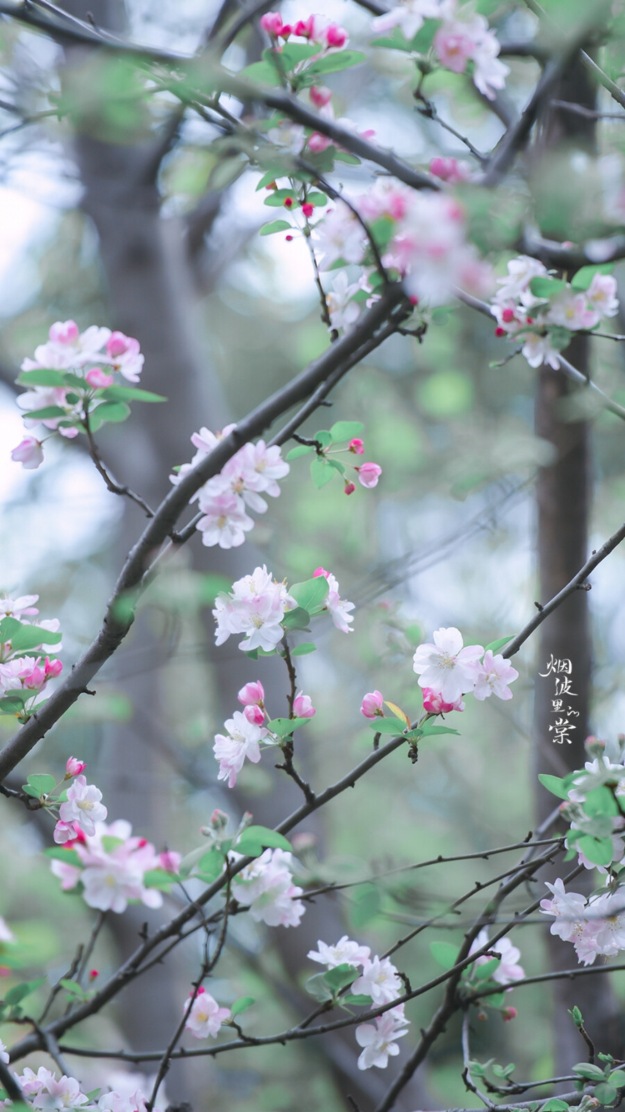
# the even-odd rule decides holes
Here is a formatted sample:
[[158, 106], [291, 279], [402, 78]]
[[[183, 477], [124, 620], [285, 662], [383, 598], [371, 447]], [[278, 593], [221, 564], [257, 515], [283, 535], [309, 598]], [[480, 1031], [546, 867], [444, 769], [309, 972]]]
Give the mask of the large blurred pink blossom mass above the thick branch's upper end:
[[[415, 304], [434, 308], [443, 305], [453, 290], [460, 286], [475, 294], [490, 288], [490, 268], [484, 264], [475, 248], [467, 242], [466, 217], [462, 205], [443, 192], [408, 189], [398, 182], [378, 179], [366, 193], [353, 198], [351, 203], [369, 225], [380, 217], [391, 221], [393, 231], [383, 250], [385, 267], [398, 271], [406, 292]], [[319, 266], [326, 271], [341, 260], [344, 264], [363, 264], [369, 241], [356, 215], [344, 201], [336, 201], [315, 225], [314, 238], [320, 254]], [[353, 299], [364, 288], [365, 279], [336, 286], [336, 301], [330, 306], [336, 327], [351, 325], [360, 311], [361, 301]], [[334, 295], [330, 295], [333, 297]], [[366, 301], [371, 305], [377, 294]]]

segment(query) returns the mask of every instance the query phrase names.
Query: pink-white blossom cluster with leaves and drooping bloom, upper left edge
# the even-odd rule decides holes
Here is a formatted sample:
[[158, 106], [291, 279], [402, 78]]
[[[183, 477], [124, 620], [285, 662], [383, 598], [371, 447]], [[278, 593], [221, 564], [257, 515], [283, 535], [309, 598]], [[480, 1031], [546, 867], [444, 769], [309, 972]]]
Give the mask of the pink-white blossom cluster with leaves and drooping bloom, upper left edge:
[[[36, 348], [34, 359], [27, 358], [21, 365], [18, 381], [28, 393], [17, 400], [26, 414], [26, 427], [43, 425], [71, 438], [88, 429], [93, 433], [107, 420], [123, 420], [129, 414], [125, 399], [163, 400], [119, 385], [116, 375], [121, 381], [138, 383], [142, 367], [139, 341], [131, 336], [97, 325], [80, 332], [75, 320], [58, 320], [47, 342]], [[42, 443], [27, 436], [13, 448], [11, 458], [27, 470], [34, 469], [43, 461]]]

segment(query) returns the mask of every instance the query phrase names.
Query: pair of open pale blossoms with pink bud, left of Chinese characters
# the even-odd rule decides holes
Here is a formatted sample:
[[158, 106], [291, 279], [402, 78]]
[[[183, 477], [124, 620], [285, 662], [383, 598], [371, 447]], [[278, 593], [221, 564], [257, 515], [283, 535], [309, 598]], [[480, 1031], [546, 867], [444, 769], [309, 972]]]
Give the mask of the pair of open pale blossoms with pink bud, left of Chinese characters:
[[500, 653], [485, 652], [482, 645], [465, 646], [454, 626], [437, 629], [434, 644], [419, 645], [413, 662], [424, 688], [424, 707], [431, 714], [464, 709], [462, 697], [467, 692], [480, 702], [490, 695], [509, 699], [513, 693], [508, 684], [518, 676]]

